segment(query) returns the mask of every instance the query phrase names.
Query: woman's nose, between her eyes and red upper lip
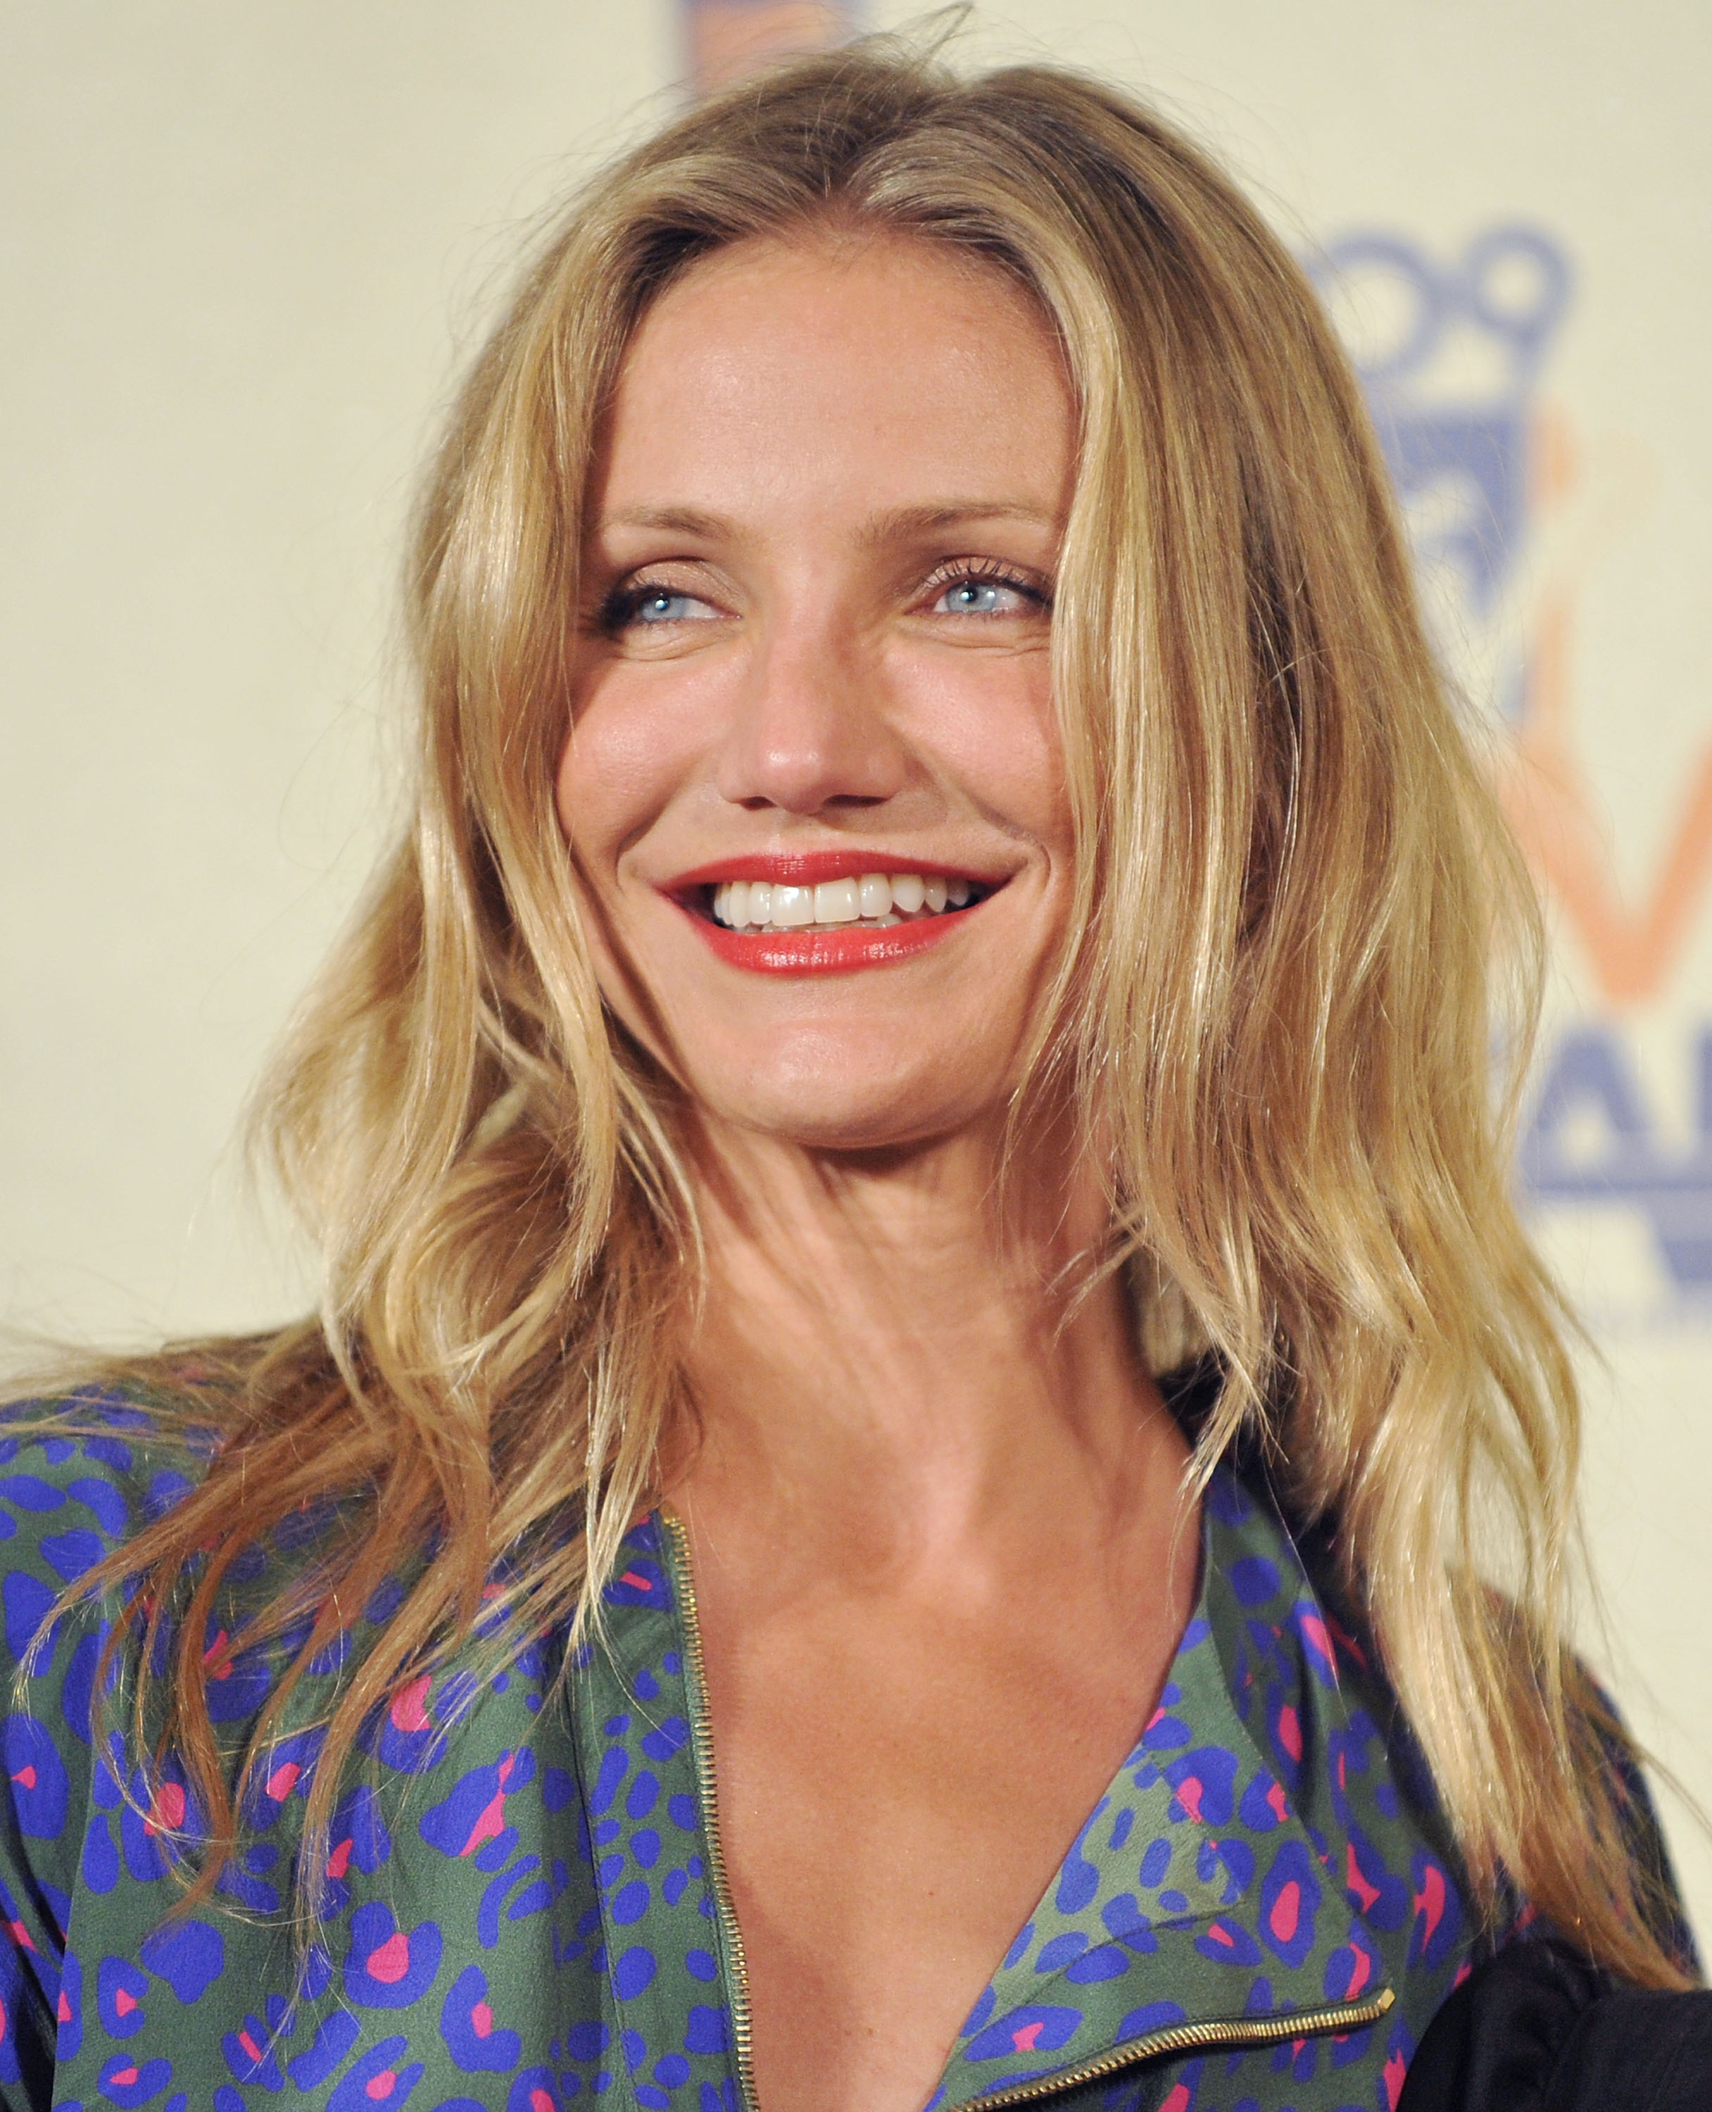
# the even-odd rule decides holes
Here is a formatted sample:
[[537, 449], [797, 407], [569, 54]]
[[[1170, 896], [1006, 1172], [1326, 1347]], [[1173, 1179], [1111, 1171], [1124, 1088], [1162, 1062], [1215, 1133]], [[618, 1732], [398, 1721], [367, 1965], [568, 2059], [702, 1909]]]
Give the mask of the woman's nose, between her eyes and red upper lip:
[[737, 807], [823, 813], [893, 798], [908, 760], [884, 710], [884, 670], [830, 610], [760, 629], [716, 784]]

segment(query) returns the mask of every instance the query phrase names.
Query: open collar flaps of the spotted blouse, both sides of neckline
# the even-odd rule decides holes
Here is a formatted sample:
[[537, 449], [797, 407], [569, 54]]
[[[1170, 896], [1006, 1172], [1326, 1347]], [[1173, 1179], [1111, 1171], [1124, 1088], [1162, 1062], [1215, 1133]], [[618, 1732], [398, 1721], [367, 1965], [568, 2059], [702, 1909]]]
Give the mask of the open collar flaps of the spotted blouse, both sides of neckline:
[[[1431, 2013], [1465, 1954], [1454, 1863], [1423, 1821], [1419, 1764], [1397, 1749], [1366, 1647], [1231, 1474], [1214, 1476], [1203, 1519], [1201, 1597], [1161, 1704], [969, 2013], [927, 2112], [996, 2112], [1159, 2057], [1262, 2047], [1296, 2082], [1372, 2061], [1395, 2101], [1421, 2030], [1400, 1981], [1433, 1981]], [[612, 1990], [612, 2051], [644, 2106], [671, 2104], [695, 2070], [754, 2112], [695, 1586], [669, 1512], [631, 1533], [606, 1601], [610, 1647], [574, 1677], [602, 1901], [583, 1935]], [[695, 1831], [684, 1867], [669, 1867], [661, 1827]]]

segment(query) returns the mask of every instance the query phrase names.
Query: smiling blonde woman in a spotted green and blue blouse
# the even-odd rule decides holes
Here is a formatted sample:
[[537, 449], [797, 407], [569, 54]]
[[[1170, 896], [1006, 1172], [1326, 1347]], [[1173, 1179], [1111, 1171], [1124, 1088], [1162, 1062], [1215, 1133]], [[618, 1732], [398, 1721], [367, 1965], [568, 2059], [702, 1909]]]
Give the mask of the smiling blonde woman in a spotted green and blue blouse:
[[262, 1098], [323, 1309], [0, 1483], [8, 2101], [1368, 2106], [1524, 1924], [1687, 1985], [1533, 912], [1258, 215], [1051, 70], [737, 89], [540, 253], [412, 608]]

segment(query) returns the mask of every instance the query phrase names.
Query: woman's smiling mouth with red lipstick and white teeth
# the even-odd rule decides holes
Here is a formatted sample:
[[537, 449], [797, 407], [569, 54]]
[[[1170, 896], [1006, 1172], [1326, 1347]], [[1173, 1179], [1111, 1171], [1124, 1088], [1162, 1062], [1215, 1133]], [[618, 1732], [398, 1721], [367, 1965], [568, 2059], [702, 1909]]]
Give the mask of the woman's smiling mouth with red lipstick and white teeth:
[[667, 893], [733, 965], [825, 974], [908, 959], [1003, 885], [944, 866], [891, 868], [872, 851], [798, 851], [705, 866]]

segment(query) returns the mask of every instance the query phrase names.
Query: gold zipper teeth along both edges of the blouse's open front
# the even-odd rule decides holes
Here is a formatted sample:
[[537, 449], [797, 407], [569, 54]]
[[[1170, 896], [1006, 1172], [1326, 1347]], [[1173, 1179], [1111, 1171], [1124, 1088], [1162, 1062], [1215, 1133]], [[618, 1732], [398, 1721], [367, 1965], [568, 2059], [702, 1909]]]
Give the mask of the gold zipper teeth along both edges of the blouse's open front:
[[[707, 1842], [707, 1884], [714, 1892], [714, 1913], [720, 1924], [720, 1939], [730, 1960], [730, 2047], [737, 2061], [737, 2091], [743, 2112], [760, 2112], [756, 2104], [754, 2025], [749, 2019], [749, 1968], [743, 1962], [743, 1932], [737, 1926], [737, 1909], [730, 1903], [726, 1880], [726, 1852], [720, 1844], [720, 1797], [714, 1780], [714, 1734], [707, 1711], [707, 1656], [701, 1647], [701, 1614], [695, 1603], [695, 1578], [690, 1573], [690, 1535], [684, 1521], [661, 1504], [661, 1525], [671, 1548], [671, 1588], [684, 1618], [686, 1687], [690, 1700], [690, 1755], [695, 1757], [697, 1804], [701, 1808], [701, 1831]], [[1328, 2009], [1298, 2009], [1288, 2017], [1224, 2017], [1207, 2023], [1169, 2023], [1159, 2032], [1144, 2032], [1142, 2038], [1125, 2040], [1102, 2053], [1098, 2061], [1085, 2061], [1062, 2074], [1041, 2076], [1034, 2082], [1020, 2082], [1009, 2091], [990, 2091], [982, 2097], [965, 2097], [946, 2112], [1001, 2112], [1003, 2106], [1030, 2104], [1036, 2097], [1051, 2097], [1055, 2091], [1072, 2091], [1083, 2082], [1098, 2082], [1117, 2074], [1134, 2061], [1150, 2061], [1159, 2053], [1195, 2053], [1205, 2047], [1269, 2047], [1290, 2038], [1313, 2038], [1319, 2032], [1359, 2032], [1376, 2023], [1397, 1998], [1389, 1987], [1381, 1987], [1366, 2002], [1343, 2002]]]

